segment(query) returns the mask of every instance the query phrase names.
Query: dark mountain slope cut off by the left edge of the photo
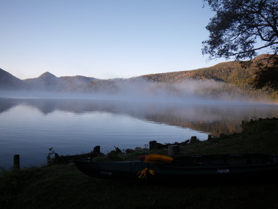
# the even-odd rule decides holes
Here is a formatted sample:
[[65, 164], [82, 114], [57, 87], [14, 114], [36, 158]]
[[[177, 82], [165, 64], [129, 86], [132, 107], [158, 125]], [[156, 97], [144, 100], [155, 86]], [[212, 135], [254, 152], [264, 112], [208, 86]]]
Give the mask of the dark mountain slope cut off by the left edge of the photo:
[[18, 90], [25, 87], [24, 82], [0, 68], [0, 90]]

